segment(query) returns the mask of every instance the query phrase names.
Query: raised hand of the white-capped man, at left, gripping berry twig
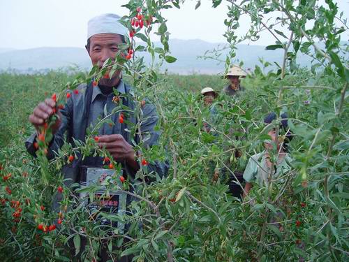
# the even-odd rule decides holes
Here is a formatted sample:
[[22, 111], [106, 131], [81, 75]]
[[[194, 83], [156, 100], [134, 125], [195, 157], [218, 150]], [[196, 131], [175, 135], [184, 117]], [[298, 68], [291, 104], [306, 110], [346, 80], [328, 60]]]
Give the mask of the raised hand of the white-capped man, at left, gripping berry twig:
[[[39, 126], [45, 124], [45, 121], [53, 114], [56, 102], [53, 99], [45, 99], [45, 102], [39, 103], [31, 115], [29, 115], [29, 122], [33, 124], [37, 131], [39, 131]], [[58, 111], [59, 117], [52, 126], [52, 133], [56, 133], [61, 125], [61, 113]]]

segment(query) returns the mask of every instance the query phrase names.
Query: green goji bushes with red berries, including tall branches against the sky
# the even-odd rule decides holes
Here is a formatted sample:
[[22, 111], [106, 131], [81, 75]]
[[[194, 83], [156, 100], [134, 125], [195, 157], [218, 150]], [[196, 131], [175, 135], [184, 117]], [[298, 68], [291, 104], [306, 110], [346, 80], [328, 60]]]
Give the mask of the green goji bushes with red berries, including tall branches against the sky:
[[[231, 50], [227, 70], [234, 62], [235, 45], [242, 40], [235, 36], [242, 15], [251, 18], [251, 29], [243, 38], [256, 40], [260, 30], [269, 31], [276, 43], [267, 49], [283, 49], [284, 59], [276, 69], [260, 61], [242, 80], [245, 91], [239, 96], [221, 93], [214, 101], [214, 117], [200, 89], [211, 86], [220, 91], [227, 84], [223, 78], [161, 74], [142, 61], [140, 51], [164, 63], [175, 62], [161, 10], [179, 8], [181, 1], [130, 1], [126, 5], [130, 14], [124, 17], [129, 42], [101, 71], [0, 74], [1, 259], [72, 261], [80, 253], [84, 261], [98, 261], [103, 247], [111, 261], [121, 254], [133, 254], [135, 261], [346, 261], [349, 73], [347, 50], [340, 44], [346, 24], [334, 23], [342, 15], [330, 0], [214, 0], [213, 8], [222, 2], [230, 5], [225, 20]], [[266, 24], [267, 13], [279, 14], [275, 23], [281, 20], [283, 31]], [[151, 30], [161, 36], [161, 48], [152, 45]], [[145, 44], [136, 45], [138, 38]], [[317, 45], [319, 39], [325, 41], [325, 48]], [[299, 68], [297, 52], [311, 55], [313, 66]], [[141, 119], [142, 107], [154, 103], [159, 115], [160, 143], [151, 148], [136, 146], [141, 152], [136, 182], [131, 184], [120, 175], [119, 163], [96, 148], [94, 130], [87, 132], [84, 143], [64, 145], [49, 161], [47, 143], [55, 115], [40, 131], [38, 157], [26, 152], [24, 140], [34, 131], [27, 119], [39, 101], [52, 97], [59, 110], [72, 93], [83, 95], [76, 89], [80, 82], [97, 83], [118, 68], [135, 87], [133, 113]], [[117, 110], [124, 112], [119, 122], [128, 121], [128, 108], [119, 104]], [[268, 187], [255, 185], [243, 200], [234, 198], [227, 183], [236, 171], [244, 171], [251, 155], [262, 151], [268, 138], [263, 117], [268, 112], [287, 112], [294, 136], [288, 147], [291, 168], [282, 180], [273, 180]], [[278, 117], [272, 123], [276, 130], [279, 121]], [[134, 132], [139, 126], [131, 127]], [[117, 189], [137, 200], [129, 214], [87, 211], [78, 194], [93, 198], [101, 184], [66, 186], [62, 166], [93, 150], [104, 157], [105, 168], [114, 170], [112, 180], [103, 184], [107, 192]], [[147, 165], [158, 160], [170, 162], [167, 177], [147, 173]], [[146, 178], [152, 182], [146, 183]], [[130, 187], [135, 187], [133, 193]], [[52, 210], [57, 197], [59, 210]], [[102, 225], [103, 219], [128, 224], [128, 231]]]

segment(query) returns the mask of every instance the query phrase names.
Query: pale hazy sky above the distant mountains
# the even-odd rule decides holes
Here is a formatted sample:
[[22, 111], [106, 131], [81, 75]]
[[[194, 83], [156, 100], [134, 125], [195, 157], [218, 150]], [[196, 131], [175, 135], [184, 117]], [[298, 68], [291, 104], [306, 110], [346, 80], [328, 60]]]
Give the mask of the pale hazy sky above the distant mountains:
[[[126, 15], [121, 5], [126, 0], [0, 0], [0, 48], [38, 48], [43, 46], [84, 47], [87, 21], [102, 13]], [[348, 17], [349, 1], [339, 0], [340, 10]], [[227, 6], [211, 8], [211, 1], [202, 0], [195, 10], [196, 1], [187, 0], [181, 9], [163, 10], [168, 19], [170, 38], [202, 39], [211, 43], [225, 42], [223, 34]], [[239, 31], [248, 29], [248, 20]], [[348, 34], [342, 35], [348, 40]], [[156, 40], [156, 39], [155, 39]], [[274, 43], [269, 34], [263, 34], [254, 44]]]

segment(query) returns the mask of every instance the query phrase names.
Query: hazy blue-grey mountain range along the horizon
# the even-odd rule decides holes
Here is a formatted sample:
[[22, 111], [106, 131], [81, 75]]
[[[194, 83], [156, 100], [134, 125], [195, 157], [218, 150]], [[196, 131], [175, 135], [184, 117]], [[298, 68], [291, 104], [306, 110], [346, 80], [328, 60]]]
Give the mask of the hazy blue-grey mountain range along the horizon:
[[[346, 42], [348, 43], [348, 42]], [[160, 43], [155, 43], [161, 46]], [[173, 64], [165, 63], [162, 70], [168, 69], [170, 73], [190, 74], [207, 73], [216, 74], [224, 71], [224, 64], [218, 64], [213, 59], [198, 59], [207, 50], [222, 48], [225, 43], [208, 43], [202, 40], [179, 40], [170, 41], [171, 55], [177, 58]], [[222, 52], [221, 60], [225, 59], [228, 50]], [[144, 55], [145, 61], [150, 61], [149, 54]], [[237, 45], [237, 61], [244, 61], [244, 68], [254, 68], [260, 64], [258, 58], [265, 61], [278, 62], [281, 64], [283, 50], [265, 50], [261, 45]], [[306, 55], [297, 57], [301, 66], [309, 66], [311, 58]], [[20, 73], [34, 73], [36, 71], [48, 71], [50, 69], [67, 68], [78, 66], [82, 69], [91, 67], [91, 61], [84, 48], [34, 48], [27, 50], [0, 49], [0, 71], [17, 71]]]

